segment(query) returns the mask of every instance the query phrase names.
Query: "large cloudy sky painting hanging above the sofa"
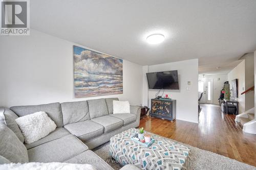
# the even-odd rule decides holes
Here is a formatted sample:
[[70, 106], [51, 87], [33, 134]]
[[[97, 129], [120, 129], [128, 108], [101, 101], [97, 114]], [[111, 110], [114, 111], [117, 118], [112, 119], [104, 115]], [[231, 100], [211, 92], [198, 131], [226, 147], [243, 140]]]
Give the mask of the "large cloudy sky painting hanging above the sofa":
[[75, 98], [123, 93], [123, 60], [74, 46]]

